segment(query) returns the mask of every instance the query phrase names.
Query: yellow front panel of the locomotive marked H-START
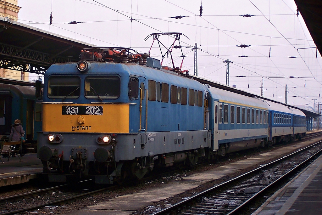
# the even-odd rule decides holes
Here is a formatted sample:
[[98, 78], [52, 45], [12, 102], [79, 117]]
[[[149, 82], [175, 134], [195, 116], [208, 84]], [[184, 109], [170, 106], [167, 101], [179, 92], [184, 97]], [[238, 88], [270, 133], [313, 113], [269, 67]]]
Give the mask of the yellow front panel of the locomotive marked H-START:
[[[64, 107], [63, 107], [64, 106]], [[66, 106], [84, 106], [89, 109], [92, 104], [43, 103], [43, 132], [82, 132], [82, 133], [128, 133], [129, 104], [95, 104], [102, 109], [102, 114], [88, 115], [67, 114]], [[71, 109], [69, 112], [71, 113]]]

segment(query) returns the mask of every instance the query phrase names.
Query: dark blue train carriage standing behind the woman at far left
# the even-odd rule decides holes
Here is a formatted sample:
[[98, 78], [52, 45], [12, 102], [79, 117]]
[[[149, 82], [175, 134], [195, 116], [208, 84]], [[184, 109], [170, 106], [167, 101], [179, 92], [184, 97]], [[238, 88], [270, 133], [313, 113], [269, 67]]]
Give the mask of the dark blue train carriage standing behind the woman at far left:
[[25, 130], [24, 153], [36, 152], [37, 132], [42, 124], [40, 102], [32, 86], [0, 83], [0, 135], [8, 141], [11, 125], [20, 119]]

